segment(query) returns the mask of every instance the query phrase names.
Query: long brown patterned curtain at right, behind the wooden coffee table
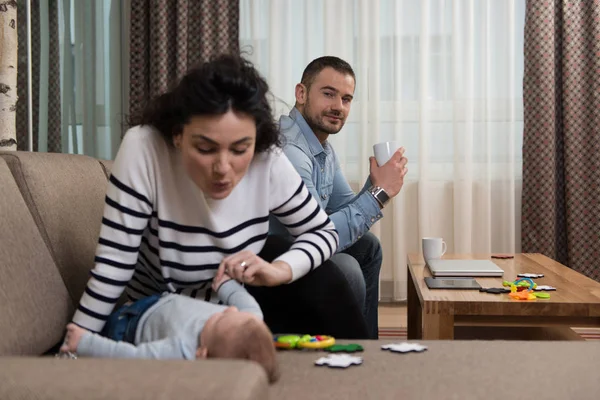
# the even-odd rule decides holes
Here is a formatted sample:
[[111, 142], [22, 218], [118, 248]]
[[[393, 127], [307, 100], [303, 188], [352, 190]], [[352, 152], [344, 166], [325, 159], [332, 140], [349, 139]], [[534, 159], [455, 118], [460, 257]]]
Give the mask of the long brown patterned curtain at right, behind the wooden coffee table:
[[524, 252], [600, 281], [600, 1], [530, 0]]

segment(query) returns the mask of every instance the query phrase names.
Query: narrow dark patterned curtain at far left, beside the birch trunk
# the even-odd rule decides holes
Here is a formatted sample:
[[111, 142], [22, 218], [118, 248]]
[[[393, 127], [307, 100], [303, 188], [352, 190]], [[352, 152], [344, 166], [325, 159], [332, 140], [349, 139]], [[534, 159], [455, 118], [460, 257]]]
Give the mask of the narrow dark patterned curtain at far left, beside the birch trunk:
[[[17, 66], [17, 149], [27, 150], [27, 5], [19, 2], [17, 30], [19, 35]], [[58, 0], [48, 0], [48, 71], [40, 71], [40, 4], [31, 0], [31, 63], [33, 94], [33, 150], [38, 151], [39, 104], [48, 103], [48, 151], [61, 152], [60, 53], [58, 42]], [[48, 74], [48, 98], [40, 99], [40, 73]]]

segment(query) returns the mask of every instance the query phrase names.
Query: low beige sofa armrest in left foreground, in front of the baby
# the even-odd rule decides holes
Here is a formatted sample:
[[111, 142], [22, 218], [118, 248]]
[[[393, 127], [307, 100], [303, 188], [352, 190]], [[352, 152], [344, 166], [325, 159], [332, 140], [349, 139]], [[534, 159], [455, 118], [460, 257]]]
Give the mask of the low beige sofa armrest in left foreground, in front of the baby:
[[0, 399], [266, 399], [250, 361], [0, 357]]

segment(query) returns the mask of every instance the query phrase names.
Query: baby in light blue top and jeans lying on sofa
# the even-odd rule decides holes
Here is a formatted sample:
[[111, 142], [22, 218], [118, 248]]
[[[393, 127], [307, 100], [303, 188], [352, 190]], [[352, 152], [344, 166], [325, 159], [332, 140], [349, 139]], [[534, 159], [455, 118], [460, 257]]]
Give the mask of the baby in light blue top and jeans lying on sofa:
[[258, 303], [227, 276], [213, 283], [213, 289], [226, 305], [165, 293], [112, 313], [103, 336], [71, 323], [60, 351], [88, 357], [249, 359], [275, 382], [279, 368], [273, 335]]

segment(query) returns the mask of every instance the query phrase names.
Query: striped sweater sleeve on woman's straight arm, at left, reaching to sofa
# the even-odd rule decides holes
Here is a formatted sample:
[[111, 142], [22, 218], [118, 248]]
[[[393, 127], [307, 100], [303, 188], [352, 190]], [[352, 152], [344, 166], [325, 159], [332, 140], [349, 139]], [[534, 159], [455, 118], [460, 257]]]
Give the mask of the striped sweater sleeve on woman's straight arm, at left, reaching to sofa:
[[73, 317], [94, 332], [102, 330], [133, 276], [152, 215], [155, 157], [147, 129], [127, 132], [109, 178], [94, 268]]

